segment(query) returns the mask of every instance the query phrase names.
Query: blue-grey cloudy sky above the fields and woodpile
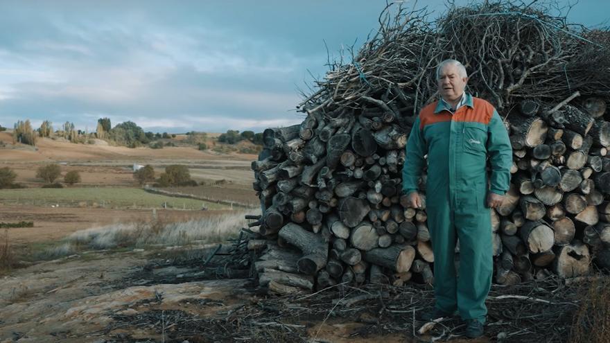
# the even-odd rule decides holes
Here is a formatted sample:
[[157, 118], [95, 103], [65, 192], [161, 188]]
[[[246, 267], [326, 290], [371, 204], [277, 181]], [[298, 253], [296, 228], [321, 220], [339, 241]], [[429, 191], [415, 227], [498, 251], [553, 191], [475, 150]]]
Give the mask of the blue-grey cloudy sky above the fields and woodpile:
[[[437, 17], [445, 3], [415, 6]], [[107, 116], [113, 126], [134, 121], [153, 132], [260, 132], [298, 123], [300, 90], [308, 93], [327, 70], [324, 42], [334, 57], [360, 46], [384, 7], [385, 0], [0, 0], [0, 125], [29, 118], [35, 127], [46, 119], [95, 130]], [[580, 0], [568, 19], [606, 26], [610, 1]]]

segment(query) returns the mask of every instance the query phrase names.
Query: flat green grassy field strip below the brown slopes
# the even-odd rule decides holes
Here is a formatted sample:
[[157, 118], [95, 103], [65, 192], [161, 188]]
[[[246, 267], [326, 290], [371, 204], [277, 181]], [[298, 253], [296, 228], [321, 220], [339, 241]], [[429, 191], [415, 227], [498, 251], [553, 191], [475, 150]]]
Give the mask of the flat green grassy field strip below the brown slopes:
[[146, 193], [139, 188], [24, 188], [0, 190], [0, 204], [104, 207], [108, 209], [162, 208], [227, 209], [223, 204]]

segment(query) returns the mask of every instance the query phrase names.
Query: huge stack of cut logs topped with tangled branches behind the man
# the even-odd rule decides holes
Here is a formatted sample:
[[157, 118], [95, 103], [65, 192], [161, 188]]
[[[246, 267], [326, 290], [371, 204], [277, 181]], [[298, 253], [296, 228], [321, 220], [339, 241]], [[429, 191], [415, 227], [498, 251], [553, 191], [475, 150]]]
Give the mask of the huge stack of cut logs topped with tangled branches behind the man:
[[470, 91], [496, 106], [514, 150], [511, 188], [491, 210], [495, 282], [581, 276], [592, 259], [610, 268], [610, 35], [575, 34], [545, 10], [485, 3], [435, 25], [384, 11], [355, 62], [334, 64], [299, 104], [304, 121], [263, 133], [252, 162], [263, 215], [249, 245], [261, 285], [434, 283], [425, 197], [407, 206], [401, 170], [445, 58], [471, 71]]

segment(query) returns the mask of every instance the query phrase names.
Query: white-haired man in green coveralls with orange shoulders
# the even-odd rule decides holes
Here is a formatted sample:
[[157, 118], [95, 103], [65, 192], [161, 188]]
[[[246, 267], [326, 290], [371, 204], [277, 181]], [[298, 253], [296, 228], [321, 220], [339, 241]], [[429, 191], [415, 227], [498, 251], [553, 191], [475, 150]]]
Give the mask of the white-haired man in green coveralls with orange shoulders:
[[[441, 98], [421, 109], [406, 146], [403, 192], [421, 208], [417, 191], [428, 155], [426, 211], [434, 251], [435, 309], [424, 319], [458, 310], [466, 335], [479, 337], [487, 315], [493, 251], [490, 207], [499, 206], [509, 188], [512, 150], [505, 126], [487, 101], [464, 92], [468, 75], [456, 60], [437, 67]], [[489, 158], [491, 175], [485, 170]], [[460, 240], [460, 276], [454, 251]]]

